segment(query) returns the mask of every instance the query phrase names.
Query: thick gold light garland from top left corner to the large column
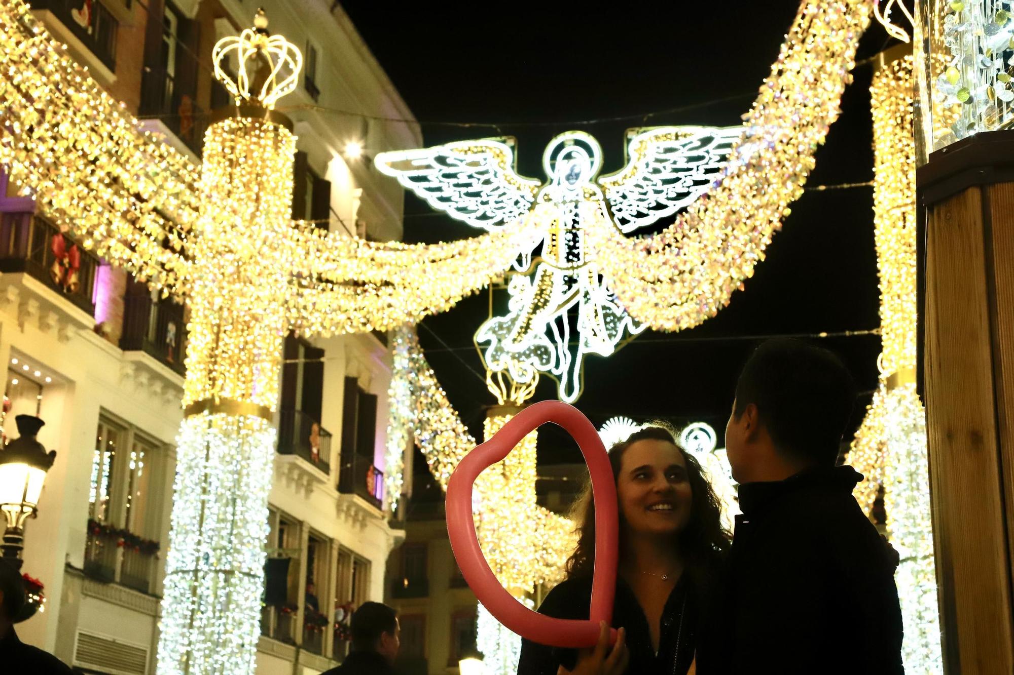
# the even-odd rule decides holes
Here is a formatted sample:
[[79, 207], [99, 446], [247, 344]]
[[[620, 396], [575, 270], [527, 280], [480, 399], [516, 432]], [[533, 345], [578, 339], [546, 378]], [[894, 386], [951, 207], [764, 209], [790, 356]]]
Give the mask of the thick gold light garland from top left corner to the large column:
[[123, 111], [21, 0], [0, 6], [0, 162], [85, 248], [179, 291], [198, 174]]

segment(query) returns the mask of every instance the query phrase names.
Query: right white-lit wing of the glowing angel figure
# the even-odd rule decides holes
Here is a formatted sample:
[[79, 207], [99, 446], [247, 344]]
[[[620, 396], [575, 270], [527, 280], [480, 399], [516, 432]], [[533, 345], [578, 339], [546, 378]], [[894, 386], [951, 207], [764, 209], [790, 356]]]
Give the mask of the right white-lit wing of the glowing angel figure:
[[742, 127], [658, 127], [633, 133], [627, 166], [598, 179], [620, 230], [650, 225], [692, 204], [721, 179], [742, 133]]

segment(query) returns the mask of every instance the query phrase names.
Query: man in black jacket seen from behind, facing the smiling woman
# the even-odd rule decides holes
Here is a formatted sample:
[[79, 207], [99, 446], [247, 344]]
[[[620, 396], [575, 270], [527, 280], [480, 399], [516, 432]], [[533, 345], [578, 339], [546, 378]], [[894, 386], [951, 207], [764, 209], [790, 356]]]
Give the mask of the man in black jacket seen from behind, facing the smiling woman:
[[836, 466], [855, 399], [830, 352], [769, 341], [736, 386], [725, 434], [739, 507], [724, 599], [698, 673], [903, 672], [894, 561]]

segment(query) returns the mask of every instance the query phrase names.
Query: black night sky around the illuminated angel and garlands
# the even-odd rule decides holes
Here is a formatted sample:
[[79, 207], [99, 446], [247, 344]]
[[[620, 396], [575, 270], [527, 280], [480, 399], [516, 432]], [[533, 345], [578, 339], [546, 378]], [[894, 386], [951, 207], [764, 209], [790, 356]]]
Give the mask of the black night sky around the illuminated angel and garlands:
[[[628, 128], [738, 124], [798, 8], [788, 0], [611, 3], [606, 9], [547, 4], [342, 3], [421, 121], [426, 145], [513, 136], [518, 171], [539, 179], [544, 148], [565, 131], [595, 136], [604, 174], [623, 165]], [[889, 44], [874, 22], [857, 60]], [[808, 186], [873, 177], [873, 71], [866, 65], [854, 74], [843, 116], [817, 152]], [[592, 122], [603, 118], [624, 119]], [[577, 406], [596, 425], [615, 415], [703, 420], [721, 435], [736, 375], [759, 336], [879, 325], [872, 206], [871, 188], [804, 194], [729, 307], [697, 328], [649, 329], [608, 358], [588, 357]], [[408, 195], [405, 240], [482, 234], [433, 213]], [[494, 297], [497, 307], [506, 306], [505, 291]], [[419, 328], [439, 381], [477, 436], [485, 407], [496, 402], [472, 339], [487, 318], [488, 302], [484, 291]], [[876, 386], [880, 340], [829, 338], [819, 344], [843, 357], [866, 392], [853, 416], [858, 426]], [[533, 400], [555, 397], [556, 382], [544, 377]], [[560, 461], [580, 461], [580, 455], [565, 434], [544, 428], [539, 463]]]

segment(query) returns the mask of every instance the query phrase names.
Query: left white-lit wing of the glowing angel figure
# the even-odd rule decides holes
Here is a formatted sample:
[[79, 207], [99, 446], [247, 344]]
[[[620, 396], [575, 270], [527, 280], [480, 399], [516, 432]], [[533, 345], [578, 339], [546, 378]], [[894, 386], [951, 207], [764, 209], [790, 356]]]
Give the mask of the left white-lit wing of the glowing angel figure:
[[486, 230], [524, 215], [541, 186], [517, 174], [504, 139], [381, 152], [373, 161], [437, 211]]

